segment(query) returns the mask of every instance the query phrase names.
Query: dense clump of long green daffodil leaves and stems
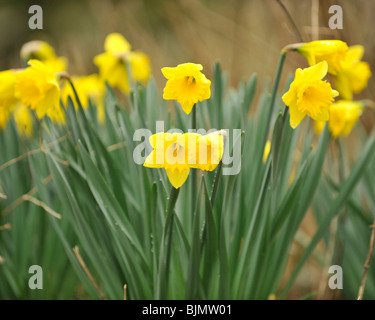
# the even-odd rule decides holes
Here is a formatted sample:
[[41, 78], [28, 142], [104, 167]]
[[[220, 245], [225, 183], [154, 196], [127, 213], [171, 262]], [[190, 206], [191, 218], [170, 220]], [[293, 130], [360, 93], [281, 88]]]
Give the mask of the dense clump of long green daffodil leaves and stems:
[[[372, 220], [361, 195], [375, 208], [369, 165], [374, 137], [362, 136], [365, 147], [338, 184], [332, 170], [324, 169], [332, 165], [324, 162], [328, 129], [317, 142], [306, 121], [305, 128], [291, 129], [276, 94], [278, 81], [273, 94], [266, 83], [255, 97], [255, 74], [228, 90], [218, 64], [214, 71], [212, 98], [196, 106], [197, 127], [230, 129], [226, 148], [241, 146], [241, 168], [237, 175], [223, 175], [227, 165], [220, 164], [196, 180], [189, 177], [179, 193], [164, 170], [133, 160], [140, 143], [133, 141], [136, 129], [155, 132], [156, 121], [164, 120], [165, 131], [187, 131], [191, 123], [179, 106], [167, 108], [153, 80], [134, 86], [125, 106], [107, 87], [103, 126], [94, 107], [76, 110], [69, 99], [65, 127], [45, 121], [30, 141], [19, 138], [13, 124], [0, 132], [0, 164], [29, 152], [0, 171], [0, 192], [7, 196], [0, 199], [0, 226], [11, 224], [11, 230], [0, 231], [0, 298], [101, 298], [72, 250], [76, 245], [108, 299], [122, 299], [124, 284], [129, 299], [267, 299], [282, 290], [285, 297], [343, 207], [344, 294], [354, 297]], [[242, 130], [234, 141], [231, 129]], [[269, 137], [271, 153], [263, 163]], [[61, 220], [30, 201], [9, 210], [30, 190]], [[291, 244], [312, 204], [318, 231], [282, 287]], [[33, 264], [45, 272], [40, 291], [27, 286]], [[373, 272], [369, 277], [374, 279]], [[365, 298], [375, 297], [371, 282]]]

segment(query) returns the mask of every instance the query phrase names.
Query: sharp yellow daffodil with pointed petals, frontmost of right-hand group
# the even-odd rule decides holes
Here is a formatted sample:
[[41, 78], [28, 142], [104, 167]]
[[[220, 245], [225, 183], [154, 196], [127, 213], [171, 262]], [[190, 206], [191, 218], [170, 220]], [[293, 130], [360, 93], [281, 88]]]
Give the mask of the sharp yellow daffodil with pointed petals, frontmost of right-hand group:
[[312, 67], [300, 69], [295, 74], [289, 91], [282, 97], [289, 107], [290, 126], [295, 129], [305, 116], [314, 120], [327, 121], [329, 108], [338, 96], [331, 84], [322, 79], [326, 76], [328, 64], [319, 62]]

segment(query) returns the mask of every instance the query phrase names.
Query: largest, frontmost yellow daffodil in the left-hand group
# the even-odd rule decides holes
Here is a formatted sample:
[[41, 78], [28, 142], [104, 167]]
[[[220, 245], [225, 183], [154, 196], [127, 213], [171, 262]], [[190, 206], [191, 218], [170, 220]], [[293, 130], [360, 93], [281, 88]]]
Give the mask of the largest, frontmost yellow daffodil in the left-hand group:
[[55, 73], [38, 60], [16, 74], [15, 95], [23, 105], [36, 110], [39, 119], [59, 107], [60, 88]]

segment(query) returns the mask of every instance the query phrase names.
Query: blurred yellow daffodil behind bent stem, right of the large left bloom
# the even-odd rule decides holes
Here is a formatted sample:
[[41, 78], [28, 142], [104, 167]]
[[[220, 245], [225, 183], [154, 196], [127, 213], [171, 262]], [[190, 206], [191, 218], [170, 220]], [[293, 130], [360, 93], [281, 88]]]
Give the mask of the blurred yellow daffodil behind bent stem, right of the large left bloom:
[[[103, 80], [97, 74], [91, 74], [82, 77], [72, 77], [72, 82], [77, 91], [78, 98], [84, 109], [89, 107], [89, 101], [91, 101], [97, 107], [98, 121], [103, 124], [105, 122], [105, 110], [104, 110], [104, 97], [105, 97], [105, 84]], [[68, 96], [75, 101], [77, 107], [77, 101], [69, 82], [65, 82], [61, 90], [61, 99], [65, 105], [68, 103]]]

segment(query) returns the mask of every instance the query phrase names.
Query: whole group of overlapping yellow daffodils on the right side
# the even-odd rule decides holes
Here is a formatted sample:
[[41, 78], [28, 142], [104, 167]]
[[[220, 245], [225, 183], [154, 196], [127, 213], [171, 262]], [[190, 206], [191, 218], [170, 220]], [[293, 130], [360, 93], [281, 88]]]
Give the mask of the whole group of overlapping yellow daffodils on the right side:
[[[334, 138], [348, 135], [362, 112], [362, 106], [351, 101], [353, 93], [366, 88], [371, 77], [368, 63], [361, 61], [363, 46], [348, 47], [340, 40], [323, 40], [287, 48], [302, 54], [310, 65], [303, 70], [297, 69], [289, 91], [282, 98], [289, 107], [292, 128], [309, 115], [316, 120], [317, 132], [329, 121]], [[337, 91], [322, 80], [327, 73], [332, 75]], [[333, 103], [338, 95], [345, 100]]]

